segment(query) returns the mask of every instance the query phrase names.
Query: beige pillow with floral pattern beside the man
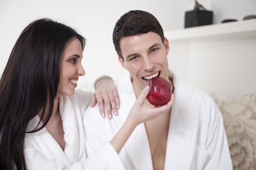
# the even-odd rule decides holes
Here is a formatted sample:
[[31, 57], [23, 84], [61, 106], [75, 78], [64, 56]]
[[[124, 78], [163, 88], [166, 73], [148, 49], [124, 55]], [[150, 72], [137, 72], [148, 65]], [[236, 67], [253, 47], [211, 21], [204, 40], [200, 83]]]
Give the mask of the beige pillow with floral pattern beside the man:
[[216, 101], [223, 117], [234, 170], [256, 170], [256, 93]]

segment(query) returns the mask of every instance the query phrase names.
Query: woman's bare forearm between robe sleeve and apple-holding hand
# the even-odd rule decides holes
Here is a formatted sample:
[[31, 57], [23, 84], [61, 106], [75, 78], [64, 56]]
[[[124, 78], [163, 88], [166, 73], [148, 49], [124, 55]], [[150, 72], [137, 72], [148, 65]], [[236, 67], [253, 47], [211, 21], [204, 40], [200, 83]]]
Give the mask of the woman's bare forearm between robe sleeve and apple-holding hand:
[[127, 117], [121, 129], [116, 133], [116, 135], [109, 142], [113, 148], [116, 150], [117, 154], [124, 147], [124, 144], [131, 136], [132, 132], [136, 128], [136, 124], [132, 121], [130, 117]]

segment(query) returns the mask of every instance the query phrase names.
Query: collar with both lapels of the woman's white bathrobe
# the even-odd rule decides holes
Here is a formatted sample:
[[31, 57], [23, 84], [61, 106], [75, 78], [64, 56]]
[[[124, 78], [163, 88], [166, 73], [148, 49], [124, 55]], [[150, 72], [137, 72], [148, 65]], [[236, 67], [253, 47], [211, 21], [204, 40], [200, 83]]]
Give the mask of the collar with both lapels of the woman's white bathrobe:
[[[64, 140], [66, 142], [64, 151], [45, 127], [36, 133], [37, 136], [44, 140], [47, 147], [50, 148], [47, 150], [52, 151], [55, 159], [60, 160], [69, 167], [75, 163], [78, 158], [80, 159], [81, 157], [84, 157], [85, 159], [86, 157], [85, 140], [84, 136], [81, 135], [83, 131], [79, 131], [79, 129], [83, 130], [81, 114], [79, 108], [76, 108], [76, 106], [74, 107], [68, 96], [59, 97], [59, 109], [64, 130]], [[33, 130], [39, 121], [40, 118], [36, 115], [36, 117], [30, 120], [27, 130]], [[79, 126], [81, 127], [79, 128]]]

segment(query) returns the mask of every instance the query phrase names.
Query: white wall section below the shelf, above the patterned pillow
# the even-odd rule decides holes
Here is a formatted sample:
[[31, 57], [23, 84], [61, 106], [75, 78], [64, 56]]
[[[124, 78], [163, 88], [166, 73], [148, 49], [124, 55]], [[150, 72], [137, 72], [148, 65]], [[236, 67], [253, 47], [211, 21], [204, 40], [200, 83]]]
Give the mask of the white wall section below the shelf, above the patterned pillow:
[[256, 39], [191, 46], [190, 85], [215, 99], [256, 92]]

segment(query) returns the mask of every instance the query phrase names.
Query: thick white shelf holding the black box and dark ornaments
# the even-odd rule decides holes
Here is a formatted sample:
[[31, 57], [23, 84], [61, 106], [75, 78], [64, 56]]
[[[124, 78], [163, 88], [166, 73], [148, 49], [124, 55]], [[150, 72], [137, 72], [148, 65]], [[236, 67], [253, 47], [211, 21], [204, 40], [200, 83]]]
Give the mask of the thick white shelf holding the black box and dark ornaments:
[[256, 19], [205, 25], [164, 32], [169, 41], [256, 39]]

